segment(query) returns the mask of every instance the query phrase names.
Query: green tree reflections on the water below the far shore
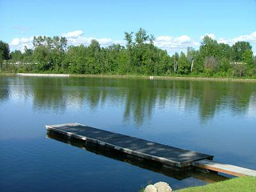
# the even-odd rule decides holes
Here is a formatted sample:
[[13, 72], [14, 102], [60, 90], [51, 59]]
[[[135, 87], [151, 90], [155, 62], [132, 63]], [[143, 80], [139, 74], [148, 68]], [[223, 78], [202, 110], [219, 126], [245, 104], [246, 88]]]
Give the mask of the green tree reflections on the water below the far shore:
[[[149, 80], [139, 78], [0, 78], [0, 102], [33, 98], [34, 110], [62, 113], [68, 107], [123, 106], [123, 118], [140, 125], [156, 107], [198, 110], [207, 122], [219, 110], [244, 114], [255, 107], [255, 82]], [[253, 106], [252, 106], [253, 105]]]

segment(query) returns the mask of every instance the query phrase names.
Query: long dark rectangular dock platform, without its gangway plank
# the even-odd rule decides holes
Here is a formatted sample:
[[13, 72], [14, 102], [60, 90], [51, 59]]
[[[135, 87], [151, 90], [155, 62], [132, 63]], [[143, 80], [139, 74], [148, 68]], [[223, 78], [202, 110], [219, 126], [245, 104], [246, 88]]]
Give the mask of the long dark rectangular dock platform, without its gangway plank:
[[99, 130], [78, 123], [46, 126], [49, 131], [64, 134], [70, 138], [93, 142], [102, 147], [121, 150], [139, 158], [146, 158], [165, 165], [178, 168], [192, 166], [193, 162], [202, 159], [212, 159], [209, 154], [202, 154], [192, 150], [179, 149], [157, 142], [149, 142], [141, 138], [134, 138], [124, 134], [116, 134], [106, 130]]

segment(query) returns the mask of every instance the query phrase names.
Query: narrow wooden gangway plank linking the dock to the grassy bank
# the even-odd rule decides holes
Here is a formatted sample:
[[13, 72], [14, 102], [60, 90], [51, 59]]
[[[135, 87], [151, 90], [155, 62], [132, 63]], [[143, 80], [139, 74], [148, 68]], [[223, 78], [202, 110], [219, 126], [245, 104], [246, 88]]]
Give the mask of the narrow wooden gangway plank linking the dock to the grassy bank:
[[193, 162], [193, 166], [197, 166], [197, 167], [207, 169], [207, 170], [218, 171], [223, 174], [231, 174], [231, 175], [238, 176], [238, 177], [240, 177], [240, 176], [256, 177], [256, 170], [250, 170], [250, 169], [246, 169], [246, 168], [243, 168], [240, 166], [223, 164], [223, 163], [214, 162], [214, 161], [210, 161], [210, 160], [206, 160], [206, 159]]

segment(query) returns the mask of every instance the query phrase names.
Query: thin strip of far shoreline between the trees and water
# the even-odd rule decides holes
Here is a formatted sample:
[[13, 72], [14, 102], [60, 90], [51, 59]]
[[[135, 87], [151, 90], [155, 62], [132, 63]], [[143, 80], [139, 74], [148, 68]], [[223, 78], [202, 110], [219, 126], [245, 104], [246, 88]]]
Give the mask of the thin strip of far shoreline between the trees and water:
[[217, 82], [256, 82], [255, 78], [206, 78], [186, 76], [150, 76], [137, 74], [26, 74], [26, 73], [0, 73], [0, 76], [26, 76], [26, 77], [79, 77], [79, 78], [144, 78], [162, 80], [193, 80], [193, 81], [217, 81]]

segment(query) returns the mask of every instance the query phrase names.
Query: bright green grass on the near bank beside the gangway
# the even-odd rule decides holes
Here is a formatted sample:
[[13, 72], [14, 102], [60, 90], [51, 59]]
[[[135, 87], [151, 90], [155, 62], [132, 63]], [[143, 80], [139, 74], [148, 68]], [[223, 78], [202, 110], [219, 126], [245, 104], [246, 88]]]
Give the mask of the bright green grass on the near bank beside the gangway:
[[232, 178], [223, 182], [215, 182], [206, 186], [194, 186], [177, 192], [198, 192], [198, 191], [256, 191], [256, 178], [242, 177]]

